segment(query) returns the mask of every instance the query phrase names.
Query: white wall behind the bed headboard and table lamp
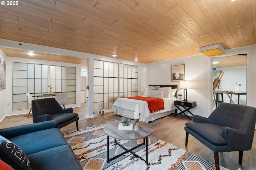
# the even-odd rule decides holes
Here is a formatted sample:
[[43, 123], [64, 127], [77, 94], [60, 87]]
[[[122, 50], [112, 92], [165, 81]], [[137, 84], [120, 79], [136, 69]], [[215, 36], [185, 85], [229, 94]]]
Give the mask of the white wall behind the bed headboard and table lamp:
[[[196, 115], [208, 116], [209, 110], [209, 57], [196, 55], [146, 64], [147, 85], [178, 85], [171, 81], [171, 66], [185, 64], [185, 80], [192, 81], [193, 89], [188, 89], [188, 100], [196, 101], [197, 107], [191, 109]], [[183, 89], [178, 89], [183, 94]], [[190, 114], [188, 114], [190, 115]]]

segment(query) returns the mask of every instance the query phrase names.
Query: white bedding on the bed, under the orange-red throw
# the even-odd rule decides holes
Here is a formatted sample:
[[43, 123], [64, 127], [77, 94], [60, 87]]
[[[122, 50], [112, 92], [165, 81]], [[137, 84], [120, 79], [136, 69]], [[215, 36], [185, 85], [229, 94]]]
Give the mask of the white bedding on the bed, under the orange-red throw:
[[[146, 96], [144, 96], [146, 97]], [[114, 110], [114, 113], [117, 113], [118, 115], [124, 116], [128, 115], [131, 119], [134, 118], [134, 111], [135, 111], [135, 105], [140, 104], [140, 121], [148, 122], [152, 121], [154, 119], [150, 119], [150, 117], [155, 117], [156, 119], [160, 118], [160, 114], [166, 115], [166, 113], [174, 113], [174, 101], [177, 99], [175, 97], [164, 97], [162, 98], [164, 100], [164, 110], [156, 112], [156, 113], [150, 113], [148, 109], [148, 103], [146, 101], [136, 100], [136, 99], [128, 99], [128, 98], [118, 98], [114, 102], [112, 109]], [[173, 111], [173, 112], [170, 112]], [[158, 115], [159, 114], [159, 115]], [[167, 114], [167, 115], [168, 115]], [[157, 116], [158, 115], [158, 116]]]

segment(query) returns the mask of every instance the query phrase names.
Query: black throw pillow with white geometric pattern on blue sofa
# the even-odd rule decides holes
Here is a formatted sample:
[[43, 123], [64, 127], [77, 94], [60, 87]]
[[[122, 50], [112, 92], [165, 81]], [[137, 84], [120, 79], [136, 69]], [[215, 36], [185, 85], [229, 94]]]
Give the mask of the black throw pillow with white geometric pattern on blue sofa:
[[3, 136], [0, 136], [0, 159], [15, 170], [31, 170], [26, 154]]

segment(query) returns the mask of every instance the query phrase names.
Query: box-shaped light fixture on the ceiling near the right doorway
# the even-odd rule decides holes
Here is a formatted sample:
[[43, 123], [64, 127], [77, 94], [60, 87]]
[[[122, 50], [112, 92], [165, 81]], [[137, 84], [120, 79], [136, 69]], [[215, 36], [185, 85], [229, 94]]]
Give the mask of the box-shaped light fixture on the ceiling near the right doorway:
[[208, 45], [199, 48], [199, 52], [210, 57], [213, 55], [224, 54], [225, 49], [220, 44]]

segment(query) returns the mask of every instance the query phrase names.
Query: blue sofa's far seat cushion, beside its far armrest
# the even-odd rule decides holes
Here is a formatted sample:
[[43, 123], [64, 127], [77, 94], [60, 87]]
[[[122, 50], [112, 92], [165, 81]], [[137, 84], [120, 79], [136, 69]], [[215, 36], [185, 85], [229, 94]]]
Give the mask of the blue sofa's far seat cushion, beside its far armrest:
[[67, 144], [59, 128], [50, 128], [10, 138], [26, 155]]

